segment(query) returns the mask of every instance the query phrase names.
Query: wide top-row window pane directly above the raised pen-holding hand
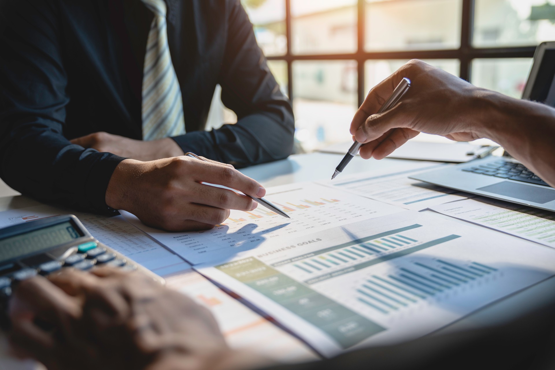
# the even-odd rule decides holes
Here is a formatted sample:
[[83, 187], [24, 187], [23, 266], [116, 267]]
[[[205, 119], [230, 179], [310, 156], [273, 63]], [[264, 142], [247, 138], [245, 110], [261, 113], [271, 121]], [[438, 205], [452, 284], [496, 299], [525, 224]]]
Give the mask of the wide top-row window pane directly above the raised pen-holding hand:
[[366, 0], [365, 49], [457, 49], [461, 0]]

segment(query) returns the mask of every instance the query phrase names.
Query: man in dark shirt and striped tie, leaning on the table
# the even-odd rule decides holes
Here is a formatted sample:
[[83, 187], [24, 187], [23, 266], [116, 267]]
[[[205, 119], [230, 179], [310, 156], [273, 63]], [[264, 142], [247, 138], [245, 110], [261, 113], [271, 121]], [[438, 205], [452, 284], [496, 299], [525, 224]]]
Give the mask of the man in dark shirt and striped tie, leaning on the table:
[[[230, 165], [291, 154], [291, 105], [239, 0], [5, 0], [0, 14], [0, 177], [23, 194], [206, 229], [256, 202], [201, 182], [264, 196]], [[216, 84], [238, 123], [205, 131]]]

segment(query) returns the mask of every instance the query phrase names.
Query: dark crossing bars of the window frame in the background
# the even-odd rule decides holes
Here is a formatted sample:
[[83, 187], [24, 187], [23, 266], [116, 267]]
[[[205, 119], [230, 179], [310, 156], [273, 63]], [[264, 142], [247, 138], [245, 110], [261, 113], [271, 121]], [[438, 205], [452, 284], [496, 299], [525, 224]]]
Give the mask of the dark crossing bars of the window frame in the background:
[[[391, 0], [404, 1], [404, 0]], [[291, 0], [285, 0], [285, 36], [287, 51], [285, 55], [272, 55], [268, 60], [282, 60], [287, 63], [287, 93], [293, 102], [292, 63], [295, 60], [355, 60], [357, 62], [357, 101], [360, 106], [366, 97], [365, 62], [380, 59], [458, 59], [460, 77], [471, 79], [471, 64], [476, 58], [532, 58], [536, 45], [518, 47], [475, 48], [472, 46], [475, 0], [462, 0], [461, 45], [458, 49], [443, 50], [407, 50], [387, 52], [367, 52], [364, 49], [366, 27], [366, 0], [357, 0], [357, 51], [344, 54], [293, 54], [291, 52]]]

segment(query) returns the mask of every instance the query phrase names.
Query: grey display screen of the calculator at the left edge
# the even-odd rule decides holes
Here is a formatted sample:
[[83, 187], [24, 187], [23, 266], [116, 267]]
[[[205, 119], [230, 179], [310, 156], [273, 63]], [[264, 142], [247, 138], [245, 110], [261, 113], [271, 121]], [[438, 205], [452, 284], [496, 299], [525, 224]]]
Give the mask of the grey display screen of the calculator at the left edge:
[[0, 262], [65, 244], [82, 236], [68, 221], [8, 237], [0, 240]]

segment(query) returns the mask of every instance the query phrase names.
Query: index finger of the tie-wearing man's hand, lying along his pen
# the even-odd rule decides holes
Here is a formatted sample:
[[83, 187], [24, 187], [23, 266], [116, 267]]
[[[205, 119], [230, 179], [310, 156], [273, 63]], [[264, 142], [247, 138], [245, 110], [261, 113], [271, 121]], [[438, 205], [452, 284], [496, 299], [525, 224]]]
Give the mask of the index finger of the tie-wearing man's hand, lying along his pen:
[[255, 197], [266, 195], [266, 190], [262, 185], [249, 176], [241, 174], [231, 165], [214, 163], [214, 161], [206, 163], [190, 157], [181, 158], [189, 160], [193, 164], [194, 169], [191, 171], [191, 175], [195, 177], [195, 181], [224, 185]]

